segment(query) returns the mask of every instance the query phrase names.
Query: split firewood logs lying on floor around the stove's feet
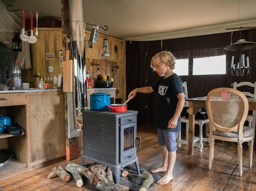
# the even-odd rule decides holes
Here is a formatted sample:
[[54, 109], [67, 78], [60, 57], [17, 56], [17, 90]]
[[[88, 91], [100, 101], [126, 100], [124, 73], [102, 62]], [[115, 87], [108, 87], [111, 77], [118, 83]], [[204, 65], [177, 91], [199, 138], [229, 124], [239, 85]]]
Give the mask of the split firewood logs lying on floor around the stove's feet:
[[[89, 182], [95, 185], [96, 189], [106, 191], [129, 190], [129, 187], [127, 186], [115, 184], [111, 168], [100, 164], [82, 166], [75, 163], [68, 163], [65, 170], [62, 166], [52, 168], [52, 171], [47, 178], [51, 179], [58, 176], [62, 180], [68, 182], [70, 181], [70, 174], [68, 172], [72, 174], [77, 187], [82, 187], [84, 185], [84, 182], [82, 181], [82, 176], [84, 175]], [[122, 176], [125, 177], [128, 174], [129, 172], [122, 173]], [[148, 172], [143, 172], [142, 177], [145, 180], [143, 181], [140, 190], [148, 190], [154, 179]]]

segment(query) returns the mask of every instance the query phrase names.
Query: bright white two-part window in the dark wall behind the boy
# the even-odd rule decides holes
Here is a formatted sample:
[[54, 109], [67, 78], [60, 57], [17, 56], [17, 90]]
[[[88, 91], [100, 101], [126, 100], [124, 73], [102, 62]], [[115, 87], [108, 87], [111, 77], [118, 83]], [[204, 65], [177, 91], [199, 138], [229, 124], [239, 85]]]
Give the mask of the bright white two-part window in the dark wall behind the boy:
[[226, 74], [226, 55], [177, 59], [174, 72], [178, 76]]

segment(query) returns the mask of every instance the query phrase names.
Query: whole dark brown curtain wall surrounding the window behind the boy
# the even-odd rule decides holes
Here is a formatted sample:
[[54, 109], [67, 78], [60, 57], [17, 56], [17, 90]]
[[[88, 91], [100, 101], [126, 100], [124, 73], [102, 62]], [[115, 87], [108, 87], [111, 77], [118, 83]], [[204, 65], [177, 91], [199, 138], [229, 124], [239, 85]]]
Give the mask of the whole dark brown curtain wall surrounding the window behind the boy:
[[[226, 75], [207, 76], [182, 76], [182, 80], [188, 83], [189, 98], [206, 96], [207, 93], [216, 87], [232, 87], [233, 82], [250, 81], [255, 82], [255, 49], [246, 50], [243, 54], [250, 56], [251, 72], [247, 76], [236, 77], [231, 75], [231, 57], [235, 56], [238, 62], [239, 53], [224, 50], [224, 47], [239, 39], [256, 42], [256, 30], [245, 30], [211, 34], [203, 36], [192, 36], [179, 39], [168, 39], [161, 41], [127, 41], [126, 42], [126, 64], [127, 64], [127, 95], [135, 87], [151, 85], [158, 76], [150, 68], [151, 57], [161, 50], [169, 50], [177, 58], [185, 58], [188, 55], [212, 56], [216, 54], [227, 55]], [[162, 48], [161, 48], [162, 44]], [[237, 59], [237, 60], [236, 60]], [[139, 120], [153, 123], [155, 115], [156, 98], [154, 94], [138, 94], [129, 102], [128, 109], [139, 111]]]

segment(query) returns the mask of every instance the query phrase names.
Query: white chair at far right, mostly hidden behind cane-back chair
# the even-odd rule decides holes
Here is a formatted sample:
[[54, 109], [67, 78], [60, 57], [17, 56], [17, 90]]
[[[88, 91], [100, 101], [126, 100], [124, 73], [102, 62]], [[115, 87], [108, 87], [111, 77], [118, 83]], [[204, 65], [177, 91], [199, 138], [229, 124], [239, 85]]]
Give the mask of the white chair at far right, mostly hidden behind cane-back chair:
[[[250, 98], [256, 98], [256, 82], [251, 83], [251, 82], [234, 82], [233, 83], [233, 89], [237, 89], [245, 94], [245, 96], [250, 97]], [[244, 91], [244, 90], [253, 88], [253, 93], [249, 91]], [[246, 121], [248, 121], [248, 127], [252, 127], [255, 131], [255, 119], [256, 119], [256, 111], [252, 111], [252, 114], [248, 114], [246, 117]]]

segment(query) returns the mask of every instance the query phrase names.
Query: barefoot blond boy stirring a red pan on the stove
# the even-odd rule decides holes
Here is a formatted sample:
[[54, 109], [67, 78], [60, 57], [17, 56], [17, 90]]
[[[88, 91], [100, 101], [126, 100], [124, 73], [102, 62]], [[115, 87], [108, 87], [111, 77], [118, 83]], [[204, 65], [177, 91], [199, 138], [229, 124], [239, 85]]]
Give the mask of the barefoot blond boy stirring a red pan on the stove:
[[162, 146], [163, 164], [152, 169], [152, 173], [165, 172], [157, 181], [165, 185], [173, 179], [172, 171], [176, 161], [178, 131], [181, 130], [181, 112], [185, 104], [182, 79], [172, 70], [175, 68], [175, 57], [171, 52], [163, 51], [151, 58], [150, 67], [160, 78], [151, 86], [132, 90], [128, 98], [136, 93], [158, 93], [155, 124], [157, 127], [158, 144]]

